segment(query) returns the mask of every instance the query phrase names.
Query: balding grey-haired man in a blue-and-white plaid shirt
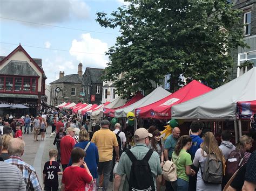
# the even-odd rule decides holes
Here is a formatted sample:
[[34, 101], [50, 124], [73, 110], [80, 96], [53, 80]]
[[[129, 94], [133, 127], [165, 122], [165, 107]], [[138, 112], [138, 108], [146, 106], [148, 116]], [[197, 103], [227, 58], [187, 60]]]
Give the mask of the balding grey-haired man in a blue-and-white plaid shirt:
[[35, 168], [29, 164], [26, 164], [21, 159], [24, 153], [24, 146], [25, 143], [22, 139], [11, 139], [8, 144], [8, 154], [10, 157], [9, 159], [5, 160], [5, 162], [15, 165], [21, 170], [24, 182], [26, 184], [26, 190], [42, 190]]

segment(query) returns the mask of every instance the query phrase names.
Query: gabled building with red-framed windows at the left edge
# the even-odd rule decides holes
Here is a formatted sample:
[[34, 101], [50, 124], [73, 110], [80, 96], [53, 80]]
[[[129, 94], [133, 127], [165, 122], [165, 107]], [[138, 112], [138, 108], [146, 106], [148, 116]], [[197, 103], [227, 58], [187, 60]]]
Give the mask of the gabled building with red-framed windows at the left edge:
[[[7, 56], [0, 56], [0, 103], [24, 104], [26, 112], [39, 114], [45, 97], [46, 76], [42, 59], [31, 58], [19, 45]], [[0, 116], [9, 113], [20, 117], [23, 110], [6, 108]]]

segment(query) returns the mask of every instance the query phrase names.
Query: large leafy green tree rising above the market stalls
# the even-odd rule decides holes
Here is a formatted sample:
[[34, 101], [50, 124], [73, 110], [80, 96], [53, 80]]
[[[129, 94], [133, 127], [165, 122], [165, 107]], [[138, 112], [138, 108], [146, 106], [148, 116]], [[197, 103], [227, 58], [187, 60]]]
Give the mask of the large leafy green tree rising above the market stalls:
[[[132, 1], [110, 16], [97, 13], [103, 27], [120, 29], [106, 53], [104, 80], [115, 81], [124, 97], [151, 90], [171, 74], [170, 90], [201, 80], [216, 88], [228, 79], [233, 59], [228, 52], [245, 47], [239, 10], [226, 0]], [[118, 76], [122, 74], [122, 79]], [[180, 76], [183, 76], [180, 78]]]

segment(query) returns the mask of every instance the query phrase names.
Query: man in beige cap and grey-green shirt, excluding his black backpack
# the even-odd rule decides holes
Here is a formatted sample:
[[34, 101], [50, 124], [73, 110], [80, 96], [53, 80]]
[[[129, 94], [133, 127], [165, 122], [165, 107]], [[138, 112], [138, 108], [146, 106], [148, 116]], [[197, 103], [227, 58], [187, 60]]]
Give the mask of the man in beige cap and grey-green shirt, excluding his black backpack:
[[[149, 137], [152, 137], [152, 134], [149, 133], [145, 128], [139, 128], [134, 133], [134, 141], [135, 146], [130, 149], [132, 154], [137, 160], [142, 160], [147, 152], [149, 152], [149, 148], [147, 146], [150, 143]], [[156, 190], [156, 176], [161, 175], [163, 172], [161, 170], [160, 166], [160, 160], [159, 155], [157, 152], [153, 152], [150, 159], [149, 159], [149, 165], [154, 181], [154, 187]], [[117, 166], [117, 173], [114, 178], [114, 190], [119, 190], [121, 185], [122, 176], [126, 175], [126, 179], [124, 182], [124, 186], [122, 190], [129, 190], [129, 179], [130, 179], [130, 171], [132, 167], [132, 161], [127, 155], [126, 152], [124, 152], [120, 158], [120, 161]]]

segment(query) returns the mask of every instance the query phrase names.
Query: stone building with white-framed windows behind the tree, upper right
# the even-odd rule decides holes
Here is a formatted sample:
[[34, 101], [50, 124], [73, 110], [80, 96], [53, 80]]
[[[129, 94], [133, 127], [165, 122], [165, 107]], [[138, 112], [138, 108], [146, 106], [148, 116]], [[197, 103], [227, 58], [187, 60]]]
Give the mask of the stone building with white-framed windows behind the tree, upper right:
[[256, 1], [235, 0], [233, 9], [242, 10], [241, 22], [244, 24], [244, 40], [250, 48], [238, 47], [232, 52], [234, 66], [231, 71], [231, 79], [239, 77], [247, 72], [251, 67], [242, 67], [245, 61], [256, 63]]

